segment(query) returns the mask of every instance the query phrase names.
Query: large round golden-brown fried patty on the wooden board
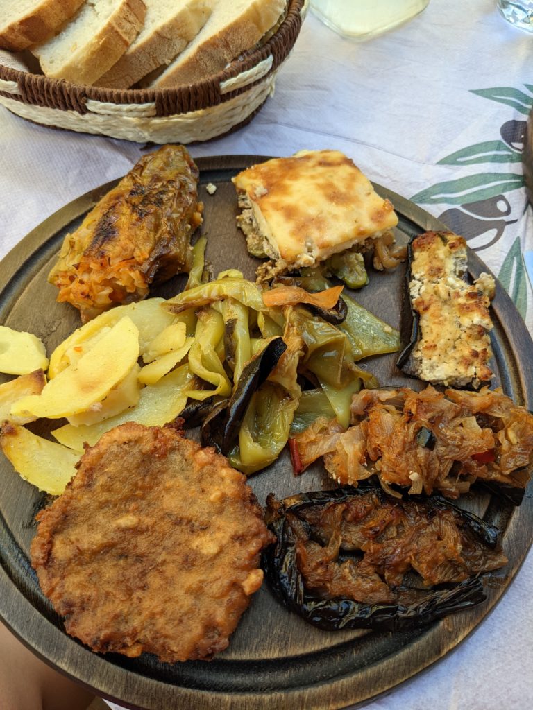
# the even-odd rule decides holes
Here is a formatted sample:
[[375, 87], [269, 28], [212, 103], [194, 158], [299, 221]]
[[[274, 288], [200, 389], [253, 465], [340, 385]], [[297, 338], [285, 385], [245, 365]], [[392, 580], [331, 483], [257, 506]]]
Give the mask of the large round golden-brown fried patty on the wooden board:
[[31, 561], [67, 632], [98, 652], [209, 659], [262, 584], [271, 535], [245, 477], [172, 427], [128, 422], [38, 514]]

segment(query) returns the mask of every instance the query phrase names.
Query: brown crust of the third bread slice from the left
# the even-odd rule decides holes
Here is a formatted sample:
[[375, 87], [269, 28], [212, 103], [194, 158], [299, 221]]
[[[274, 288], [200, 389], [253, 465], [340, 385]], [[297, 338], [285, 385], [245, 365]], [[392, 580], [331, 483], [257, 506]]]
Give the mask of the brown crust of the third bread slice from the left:
[[127, 89], [150, 72], [168, 65], [203, 28], [216, 0], [190, 0], [165, 26], [139, 37], [109, 71], [95, 82], [107, 89]]

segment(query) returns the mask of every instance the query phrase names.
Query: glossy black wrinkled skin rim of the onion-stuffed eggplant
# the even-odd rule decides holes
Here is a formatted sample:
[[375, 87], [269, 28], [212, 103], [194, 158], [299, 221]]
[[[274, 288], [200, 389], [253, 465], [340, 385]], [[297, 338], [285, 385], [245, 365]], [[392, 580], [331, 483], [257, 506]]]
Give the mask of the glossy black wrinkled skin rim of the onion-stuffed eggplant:
[[[272, 494], [267, 498], [266, 522], [269, 530], [276, 535], [276, 542], [264, 550], [262, 566], [271, 588], [292, 611], [296, 611], [313, 626], [324, 630], [365, 628], [375, 631], [401, 631], [422, 628], [450, 613], [470, 608], [485, 600], [483, 584], [478, 575], [468, 577], [458, 584], [438, 585], [428, 589], [412, 603], [365, 603], [341, 596], [327, 599], [308, 589], [298, 568], [298, 547], [301, 545], [301, 539], [295, 535], [289, 518], [296, 516], [298, 524], [306, 530], [309, 539], [316, 540], [317, 530], [305, 520], [306, 511], [317, 506], [346, 503], [357, 496], [377, 496], [380, 501], [391, 500], [381, 488], [375, 486], [343, 486], [333, 491], [302, 493], [284, 501], [276, 501]], [[394, 501], [398, 502], [397, 499]], [[404, 501], [402, 504], [413, 503], [414, 501]], [[478, 538], [480, 548], [494, 550], [499, 547], [500, 533], [497, 528], [484, 523], [477, 516], [438, 496], [422, 498], [417, 501], [417, 504], [420, 503], [428, 506], [431, 518], [438, 516], [439, 510], [457, 514], [460, 525], [469, 528], [469, 534]], [[493, 554], [497, 556], [497, 553]], [[501, 567], [505, 561], [506, 558], [500, 555], [500, 564], [495, 566]]]

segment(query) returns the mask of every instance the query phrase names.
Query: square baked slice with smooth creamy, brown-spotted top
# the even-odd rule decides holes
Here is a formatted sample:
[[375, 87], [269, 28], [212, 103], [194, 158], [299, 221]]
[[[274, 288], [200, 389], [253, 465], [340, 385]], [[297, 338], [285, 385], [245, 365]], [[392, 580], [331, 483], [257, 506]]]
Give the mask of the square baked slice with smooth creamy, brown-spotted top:
[[248, 251], [271, 259], [259, 267], [259, 280], [313, 266], [354, 245], [369, 248], [398, 224], [391, 202], [340, 151], [273, 158], [233, 182]]

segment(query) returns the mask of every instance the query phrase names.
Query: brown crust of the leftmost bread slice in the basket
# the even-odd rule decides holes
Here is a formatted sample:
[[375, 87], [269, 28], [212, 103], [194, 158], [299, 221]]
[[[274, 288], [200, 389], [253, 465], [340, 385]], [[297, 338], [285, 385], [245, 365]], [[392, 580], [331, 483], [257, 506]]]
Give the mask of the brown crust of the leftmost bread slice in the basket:
[[43, 42], [75, 14], [85, 0], [42, 0], [33, 11], [0, 28], [0, 49], [18, 52]]

